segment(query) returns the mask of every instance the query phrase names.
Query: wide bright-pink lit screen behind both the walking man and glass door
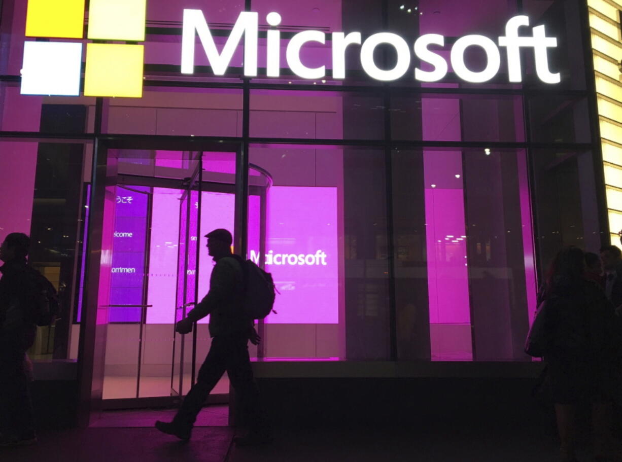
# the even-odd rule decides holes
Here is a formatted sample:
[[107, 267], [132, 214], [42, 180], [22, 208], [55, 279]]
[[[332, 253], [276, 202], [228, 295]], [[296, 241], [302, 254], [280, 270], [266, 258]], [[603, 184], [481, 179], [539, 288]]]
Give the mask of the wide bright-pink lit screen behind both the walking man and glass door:
[[[154, 188], [147, 323], [171, 323], [177, 283], [180, 192]], [[194, 206], [193, 204], [191, 206]], [[259, 218], [259, 198], [249, 200], [249, 227]], [[315, 209], [311, 216], [308, 211]], [[234, 195], [203, 192], [199, 236], [199, 293], [209, 288], [213, 260], [204, 234], [233, 229]], [[176, 217], [171, 219], [171, 217]], [[337, 188], [272, 187], [268, 192], [266, 270], [281, 295], [268, 323], [338, 322]], [[249, 257], [259, 262], [258, 236]], [[202, 295], [200, 295], [201, 297]], [[200, 323], [207, 323], [205, 318]]]

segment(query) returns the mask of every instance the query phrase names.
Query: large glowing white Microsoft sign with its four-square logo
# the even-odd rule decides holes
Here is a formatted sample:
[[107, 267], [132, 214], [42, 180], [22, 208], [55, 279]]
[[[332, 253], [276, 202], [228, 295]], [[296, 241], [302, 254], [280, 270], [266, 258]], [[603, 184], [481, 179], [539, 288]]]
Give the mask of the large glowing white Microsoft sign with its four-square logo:
[[[22, 95], [80, 95], [141, 98], [144, 69], [143, 44], [110, 43], [118, 40], [143, 42], [146, 25], [147, 0], [90, 0], [89, 23], [83, 53], [85, 0], [29, 0], [26, 36], [63, 40], [26, 40], [22, 65]], [[332, 60], [318, 67], [303, 63], [300, 51], [309, 42], [325, 45], [327, 34], [320, 30], [304, 30], [287, 43], [285, 63], [281, 63], [281, 15], [271, 12], [266, 16], [271, 29], [267, 31], [266, 76], [279, 77], [284, 67], [305, 79], [323, 79], [327, 67], [332, 67], [334, 79], [346, 78], [345, 53], [348, 47], [360, 47], [360, 62], [364, 72], [380, 81], [393, 81], [404, 76], [411, 67], [412, 55], [425, 68], [415, 67], [413, 78], [422, 82], [440, 81], [447, 75], [449, 64], [463, 81], [483, 83], [491, 80], [501, 67], [501, 49], [507, 53], [508, 80], [522, 81], [521, 49], [532, 49], [536, 74], [544, 83], [559, 83], [559, 72], [549, 68], [549, 49], [557, 47], [555, 37], [547, 37], [544, 25], [529, 30], [529, 17], [514, 16], [506, 24], [505, 35], [495, 40], [485, 35], [458, 37], [449, 53], [449, 62], [439, 52], [445, 46], [440, 34], [424, 34], [414, 44], [392, 32], [379, 32], [363, 40], [361, 32], [333, 32], [330, 35]], [[258, 76], [259, 15], [241, 12], [222, 49], [218, 50], [203, 12], [183, 10], [181, 72], [195, 72], [195, 47], [202, 45], [215, 75], [225, 75], [236, 48], [244, 39], [244, 76]], [[519, 35], [519, 29], [527, 34]], [[380, 45], [396, 51], [396, 62], [384, 69], [374, 61], [374, 50]], [[486, 55], [483, 69], [469, 68], [465, 52], [478, 47]], [[446, 53], [445, 53], [446, 54]], [[85, 57], [83, 57], [85, 55]], [[528, 55], [528, 54], [527, 54]], [[329, 58], [330, 59], [330, 58]], [[85, 62], [84, 84], [81, 88], [81, 66]]]

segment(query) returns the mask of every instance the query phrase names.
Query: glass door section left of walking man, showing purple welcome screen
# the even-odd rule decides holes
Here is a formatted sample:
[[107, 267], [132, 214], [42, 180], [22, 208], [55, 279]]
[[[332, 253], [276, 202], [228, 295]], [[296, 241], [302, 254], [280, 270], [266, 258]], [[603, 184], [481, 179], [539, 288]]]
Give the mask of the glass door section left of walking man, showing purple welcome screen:
[[[165, 404], [171, 400], [175, 307], [192, 298], [180, 292], [183, 303], [177, 303], [177, 280], [182, 290], [185, 285], [192, 291], [194, 285], [194, 263], [186, 253], [189, 247], [196, 249], [188, 227], [197, 226], [198, 208], [190, 205], [198, 194], [192, 192], [200, 174], [198, 153], [111, 149], [110, 154], [118, 171], [109, 231], [113, 246], [103, 405], [127, 407], [128, 400], [138, 398]], [[180, 254], [182, 270], [177, 267]], [[177, 346], [181, 348], [179, 341]], [[185, 349], [188, 364], [190, 354], [192, 348]]]

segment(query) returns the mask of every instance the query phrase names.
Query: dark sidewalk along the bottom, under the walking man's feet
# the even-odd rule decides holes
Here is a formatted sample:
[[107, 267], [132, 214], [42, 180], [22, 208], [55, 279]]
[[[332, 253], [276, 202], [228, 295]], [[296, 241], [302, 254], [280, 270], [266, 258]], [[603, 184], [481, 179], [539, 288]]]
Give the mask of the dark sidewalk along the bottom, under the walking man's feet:
[[[331, 412], [325, 409], [325, 412]], [[511, 420], [419, 422], [416, 425], [276, 425], [274, 443], [232, 444], [226, 407], [206, 408], [192, 440], [183, 443], [152, 427], [174, 410], [109, 413], [101, 427], [41, 432], [35, 446], [0, 449], [2, 462], [555, 462], [552, 415], [533, 415], [529, 425]], [[327, 416], [327, 420], [328, 416]], [[108, 427], [106, 427], [108, 426]], [[116, 428], [115, 428], [116, 427]], [[592, 461], [585, 423], [578, 460]]]

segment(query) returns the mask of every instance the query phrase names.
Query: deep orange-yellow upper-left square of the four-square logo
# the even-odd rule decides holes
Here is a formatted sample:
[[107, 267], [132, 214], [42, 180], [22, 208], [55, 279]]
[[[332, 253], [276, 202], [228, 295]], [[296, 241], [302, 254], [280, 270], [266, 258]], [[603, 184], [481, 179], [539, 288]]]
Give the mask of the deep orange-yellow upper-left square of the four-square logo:
[[81, 39], [85, 0], [29, 0], [26, 37]]

